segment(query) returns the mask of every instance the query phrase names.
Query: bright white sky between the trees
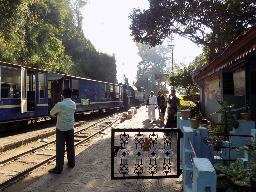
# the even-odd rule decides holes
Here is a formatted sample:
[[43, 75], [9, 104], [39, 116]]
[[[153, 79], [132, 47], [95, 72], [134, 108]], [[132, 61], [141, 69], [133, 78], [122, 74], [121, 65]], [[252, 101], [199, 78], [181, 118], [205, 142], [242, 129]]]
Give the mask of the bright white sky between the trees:
[[[123, 82], [123, 74], [129, 79], [129, 84], [137, 74], [137, 64], [141, 57], [130, 37], [128, 19], [133, 8], [147, 9], [147, 0], [92, 0], [83, 11], [83, 32], [95, 48], [103, 53], [115, 54], [118, 83]], [[174, 60], [189, 63], [198, 56], [202, 49], [186, 38], [174, 35]]]

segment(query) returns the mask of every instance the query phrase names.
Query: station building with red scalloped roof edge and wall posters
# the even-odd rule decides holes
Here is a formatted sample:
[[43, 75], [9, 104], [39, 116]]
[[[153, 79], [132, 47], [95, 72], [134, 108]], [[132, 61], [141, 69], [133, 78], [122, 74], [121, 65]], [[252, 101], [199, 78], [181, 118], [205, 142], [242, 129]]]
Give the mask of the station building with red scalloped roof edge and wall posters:
[[[223, 53], [206, 66], [196, 69], [192, 78], [200, 88], [201, 112], [205, 117], [221, 109], [216, 101], [242, 108], [249, 104], [251, 120], [256, 121], [256, 24], [231, 42]], [[242, 119], [237, 113], [237, 119]], [[209, 119], [218, 123], [220, 114]]]

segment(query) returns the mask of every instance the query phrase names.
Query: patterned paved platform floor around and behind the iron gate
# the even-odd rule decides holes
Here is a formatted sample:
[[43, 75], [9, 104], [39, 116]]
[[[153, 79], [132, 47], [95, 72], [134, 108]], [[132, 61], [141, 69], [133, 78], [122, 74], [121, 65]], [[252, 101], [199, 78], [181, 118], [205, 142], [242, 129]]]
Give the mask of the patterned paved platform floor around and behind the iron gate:
[[[121, 123], [118, 128], [163, 128], [164, 124], [158, 119], [157, 122], [148, 122], [147, 109], [145, 106], [138, 110], [133, 119]], [[157, 110], [156, 110], [157, 112]], [[167, 118], [166, 118], [167, 119]], [[133, 137], [133, 133], [129, 133]], [[145, 133], [145, 137], [148, 135]], [[161, 135], [159, 134], [159, 138]], [[120, 137], [115, 136], [115, 143], [120, 143]], [[175, 143], [175, 136], [172, 140]], [[161, 149], [163, 146], [157, 148]], [[131, 143], [129, 145], [133, 145]], [[38, 180], [23, 192], [179, 192], [182, 189], [182, 178], [178, 179], [133, 179], [133, 180], [111, 180], [111, 133], [91, 145], [82, 153], [76, 156], [79, 163], [74, 168], [64, 166], [61, 174], [48, 174]], [[129, 147], [128, 147], [129, 148]], [[173, 148], [174, 154], [177, 149]], [[130, 150], [133, 155], [134, 150]], [[175, 155], [172, 166], [176, 166]], [[145, 158], [145, 161], [148, 159]], [[118, 173], [120, 159], [115, 159], [115, 173]], [[144, 162], [143, 162], [144, 163]], [[157, 165], [158, 166], [158, 165]], [[163, 166], [160, 164], [159, 167]], [[144, 167], [144, 166], [143, 166]], [[134, 166], [129, 167], [130, 172]], [[172, 168], [173, 169], [173, 168]], [[148, 168], [145, 168], [148, 173]], [[160, 170], [161, 171], [161, 170]], [[158, 174], [161, 174], [159, 171]], [[173, 174], [176, 170], [173, 169]], [[119, 175], [120, 176], [120, 175]]]

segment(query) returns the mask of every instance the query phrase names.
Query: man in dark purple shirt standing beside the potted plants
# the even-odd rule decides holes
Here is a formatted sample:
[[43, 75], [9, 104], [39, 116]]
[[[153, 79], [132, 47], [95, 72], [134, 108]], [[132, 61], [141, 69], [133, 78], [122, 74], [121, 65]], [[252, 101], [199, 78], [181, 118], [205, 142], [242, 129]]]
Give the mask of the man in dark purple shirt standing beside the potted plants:
[[[172, 99], [171, 99], [172, 96]], [[174, 115], [177, 113], [177, 104], [179, 105], [179, 98], [176, 96], [176, 91], [171, 90], [171, 94], [169, 95], [168, 103], [171, 105], [169, 109], [169, 116], [167, 123], [165, 125], [166, 128], [172, 128], [174, 124]], [[176, 104], [177, 103], [177, 104]]]

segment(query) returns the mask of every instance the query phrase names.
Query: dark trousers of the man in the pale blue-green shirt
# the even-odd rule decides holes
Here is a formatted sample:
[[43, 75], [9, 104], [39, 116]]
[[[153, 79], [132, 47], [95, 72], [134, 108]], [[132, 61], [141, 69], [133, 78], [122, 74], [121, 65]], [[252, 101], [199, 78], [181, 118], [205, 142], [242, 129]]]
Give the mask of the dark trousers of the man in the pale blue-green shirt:
[[69, 167], [74, 167], [76, 163], [74, 147], [74, 129], [60, 131], [56, 129], [56, 167], [57, 172], [62, 172], [65, 156], [65, 141], [67, 146], [67, 156]]

